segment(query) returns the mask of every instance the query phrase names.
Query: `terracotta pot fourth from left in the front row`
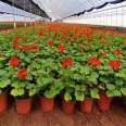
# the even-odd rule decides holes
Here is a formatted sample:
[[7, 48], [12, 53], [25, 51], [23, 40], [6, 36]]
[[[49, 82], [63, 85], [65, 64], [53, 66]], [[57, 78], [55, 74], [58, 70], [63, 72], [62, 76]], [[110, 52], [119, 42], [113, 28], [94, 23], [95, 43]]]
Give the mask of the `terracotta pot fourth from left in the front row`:
[[74, 101], [62, 101], [62, 110], [66, 114], [73, 114], [75, 111], [75, 102]]

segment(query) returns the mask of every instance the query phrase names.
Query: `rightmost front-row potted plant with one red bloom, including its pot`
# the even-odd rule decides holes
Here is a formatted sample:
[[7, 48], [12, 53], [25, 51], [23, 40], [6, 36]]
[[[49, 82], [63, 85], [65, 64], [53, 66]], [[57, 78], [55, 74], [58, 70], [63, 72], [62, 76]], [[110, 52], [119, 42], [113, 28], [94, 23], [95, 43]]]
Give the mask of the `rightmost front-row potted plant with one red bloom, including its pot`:
[[[114, 46], [113, 46], [114, 47]], [[125, 93], [125, 68], [122, 56], [118, 54], [108, 53], [102, 59], [102, 65], [99, 70], [99, 88], [100, 99], [98, 101], [101, 111], [109, 111], [112, 99], [114, 97], [122, 97]]]

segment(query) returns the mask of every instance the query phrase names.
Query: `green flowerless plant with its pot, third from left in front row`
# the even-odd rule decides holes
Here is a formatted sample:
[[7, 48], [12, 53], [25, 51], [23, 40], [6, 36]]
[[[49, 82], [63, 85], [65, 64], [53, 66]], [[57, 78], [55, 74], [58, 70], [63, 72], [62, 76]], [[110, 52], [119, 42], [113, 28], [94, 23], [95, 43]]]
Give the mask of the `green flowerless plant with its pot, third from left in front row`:
[[[49, 60], [47, 60], [49, 61]], [[40, 108], [42, 112], [50, 112], [54, 106], [54, 98], [63, 89], [62, 79], [58, 77], [58, 73], [52, 70], [55, 66], [53, 61], [41, 62], [42, 67], [38, 70], [37, 86], [39, 87]], [[55, 77], [56, 76], [56, 77]]]

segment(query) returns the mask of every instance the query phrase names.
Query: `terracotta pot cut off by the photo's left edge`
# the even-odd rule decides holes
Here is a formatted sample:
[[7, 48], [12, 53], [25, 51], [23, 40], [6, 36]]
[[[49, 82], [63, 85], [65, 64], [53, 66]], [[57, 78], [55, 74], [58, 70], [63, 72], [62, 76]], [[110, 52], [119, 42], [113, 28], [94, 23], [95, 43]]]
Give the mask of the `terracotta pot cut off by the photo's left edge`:
[[0, 113], [5, 112], [8, 109], [8, 94], [5, 92], [0, 94]]

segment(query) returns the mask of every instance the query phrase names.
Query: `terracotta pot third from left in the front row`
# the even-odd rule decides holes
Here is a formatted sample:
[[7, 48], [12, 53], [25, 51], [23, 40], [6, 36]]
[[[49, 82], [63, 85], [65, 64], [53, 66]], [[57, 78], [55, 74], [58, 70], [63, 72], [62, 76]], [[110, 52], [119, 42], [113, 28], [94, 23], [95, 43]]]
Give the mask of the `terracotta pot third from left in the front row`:
[[54, 106], [54, 99], [40, 97], [40, 108], [42, 112], [50, 112], [53, 110], [53, 106]]

